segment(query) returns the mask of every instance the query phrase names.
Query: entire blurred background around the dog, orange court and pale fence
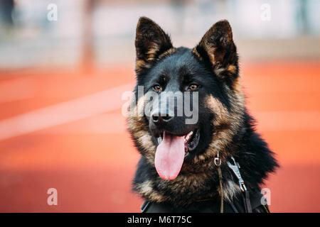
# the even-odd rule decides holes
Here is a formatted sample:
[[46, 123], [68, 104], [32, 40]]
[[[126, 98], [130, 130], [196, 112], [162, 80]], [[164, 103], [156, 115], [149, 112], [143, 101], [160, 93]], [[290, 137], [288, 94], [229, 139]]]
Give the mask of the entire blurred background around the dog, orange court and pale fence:
[[264, 185], [270, 209], [319, 212], [319, 11], [319, 0], [0, 0], [0, 211], [139, 211], [122, 94], [148, 16], [189, 48], [228, 19], [248, 109], [281, 165]]

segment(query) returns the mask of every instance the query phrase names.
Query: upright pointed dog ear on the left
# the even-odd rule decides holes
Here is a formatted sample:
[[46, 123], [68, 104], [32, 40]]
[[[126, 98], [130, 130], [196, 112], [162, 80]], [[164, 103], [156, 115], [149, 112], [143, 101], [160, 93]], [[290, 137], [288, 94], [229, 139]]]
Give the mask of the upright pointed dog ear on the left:
[[137, 73], [149, 68], [161, 53], [173, 48], [169, 35], [164, 33], [154, 21], [146, 17], [139, 18], [135, 45]]

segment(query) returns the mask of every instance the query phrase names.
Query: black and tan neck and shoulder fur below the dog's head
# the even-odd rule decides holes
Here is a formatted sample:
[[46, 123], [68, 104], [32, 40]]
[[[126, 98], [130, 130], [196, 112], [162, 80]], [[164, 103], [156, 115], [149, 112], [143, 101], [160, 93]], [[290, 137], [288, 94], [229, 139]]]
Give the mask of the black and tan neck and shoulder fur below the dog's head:
[[[273, 172], [277, 162], [272, 157], [272, 152], [267, 144], [255, 133], [252, 118], [247, 116], [245, 127], [233, 140], [233, 156], [240, 163], [241, 175], [247, 188], [259, 187], [268, 172]], [[260, 165], [263, 160], [263, 165]], [[260, 163], [260, 164], [259, 164]], [[199, 165], [199, 166], [198, 166]], [[134, 178], [134, 191], [144, 199], [155, 202], [169, 202], [176, 206], [187, 206], [201, 199], [220, 198], [219, 179], [214, 159], [198, 163], [198, 168], [188, 172], [181, 170], [174, 180], [164, 180], [159, 177], [154, 166], [146, 158], [139, 161], [136, 176]], [[252, 168], [255, 170], [253, 171]], [[221, 165], [223, 175], [223, 194], [226, 201], [232, 201], [240, 193], [238, 181], [226, 160]]]

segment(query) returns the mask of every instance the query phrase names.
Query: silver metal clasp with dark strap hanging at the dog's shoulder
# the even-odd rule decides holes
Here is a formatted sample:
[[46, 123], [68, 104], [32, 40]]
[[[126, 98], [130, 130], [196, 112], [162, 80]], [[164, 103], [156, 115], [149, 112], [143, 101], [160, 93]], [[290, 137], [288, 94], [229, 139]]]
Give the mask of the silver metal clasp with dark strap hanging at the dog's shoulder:
[[240, 174], [240, 165], [238, 162], [235, 162], [235, 159], [231, 157], [233, 160], [233, 163], [227, 162], [228, 167], [230, 167], [231, 170], [233, 170], [233, 173], [235, 174], [235, 177], [238, 178], [239, 186], [242, 192], [244, 192], [244, 198], [243, 198], [243, 203], [245, 204], [245, 212], [246, 213], [252, 213], [252, 206], [250, 202], [250, 194], [249, 191], [247, 190], [247, 187], [245, 187], [245, 182], [243, 181], [241, 174]]

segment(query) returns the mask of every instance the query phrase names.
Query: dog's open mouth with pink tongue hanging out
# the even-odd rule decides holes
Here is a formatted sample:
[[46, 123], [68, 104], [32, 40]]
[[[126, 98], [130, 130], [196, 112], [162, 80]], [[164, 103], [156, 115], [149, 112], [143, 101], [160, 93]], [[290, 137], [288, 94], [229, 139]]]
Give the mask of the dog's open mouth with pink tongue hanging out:
[[162, 179], [176, 179], [185, 157], [196, 149], [200, 131], [195, 129], [186, 135], [174, 135], [164, 131], [158, 138], [154, 165]]

